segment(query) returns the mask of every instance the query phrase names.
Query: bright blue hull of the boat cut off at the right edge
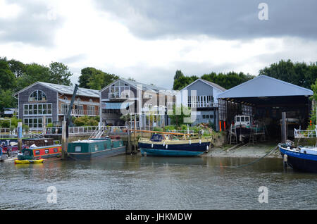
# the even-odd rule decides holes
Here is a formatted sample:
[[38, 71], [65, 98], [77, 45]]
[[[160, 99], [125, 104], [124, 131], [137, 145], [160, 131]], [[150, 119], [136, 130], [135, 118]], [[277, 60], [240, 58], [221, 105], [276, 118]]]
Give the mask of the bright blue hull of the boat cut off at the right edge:
[[295, 152], [281, 146], [279, 149], [282, 156], [287, 155], [287, 165], [294, 170], [317, 173], [317, 155]]

